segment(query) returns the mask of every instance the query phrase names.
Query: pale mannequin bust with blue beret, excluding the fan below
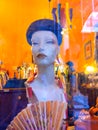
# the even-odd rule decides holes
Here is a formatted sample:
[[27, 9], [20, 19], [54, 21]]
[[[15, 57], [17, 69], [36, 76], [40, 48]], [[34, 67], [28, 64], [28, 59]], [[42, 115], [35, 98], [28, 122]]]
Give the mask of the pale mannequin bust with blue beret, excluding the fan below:
[[54, 61], [62, 42], [61, 31], [61, 26], [50, 19], [37, 20], [31, 23], [27, 30], [27, 41], [31, 45], [34, 63], [38, 67], [37, 77], [26, 82], [26, 87], [29, 87], [27, 97], [31, 103], [50, 100], [66, 102], [64, 92], [58, 86], [54, 74]]

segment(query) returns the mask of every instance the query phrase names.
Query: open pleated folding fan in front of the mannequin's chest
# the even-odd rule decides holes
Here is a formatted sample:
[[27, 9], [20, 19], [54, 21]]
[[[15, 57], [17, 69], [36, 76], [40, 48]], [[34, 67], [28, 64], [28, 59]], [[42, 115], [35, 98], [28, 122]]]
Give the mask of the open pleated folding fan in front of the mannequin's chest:
[[65, 109], [60, 101], [32, 104], [18, 113], [6, 130], [60, 130]]

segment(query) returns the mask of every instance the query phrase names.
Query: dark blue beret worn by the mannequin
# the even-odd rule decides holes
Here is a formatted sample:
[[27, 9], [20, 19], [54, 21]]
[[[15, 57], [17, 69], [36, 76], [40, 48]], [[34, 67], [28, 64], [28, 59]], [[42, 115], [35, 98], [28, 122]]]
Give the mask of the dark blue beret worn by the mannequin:
[[39, 20], [31, 23], [31, 25], [28, 27], [27, 32], [26, 32], [26, 37], [27, 37], [28, 43], [30, 45], [32, 45], [31, 37], [34, 32], [43, 31], [43, 30], [53, 32], [58, 39], [58, 45], [61, 44], [62, 27], [59, 23], [55, 22], [54, 20], [50, 20], [50, 19], [39, 19]]

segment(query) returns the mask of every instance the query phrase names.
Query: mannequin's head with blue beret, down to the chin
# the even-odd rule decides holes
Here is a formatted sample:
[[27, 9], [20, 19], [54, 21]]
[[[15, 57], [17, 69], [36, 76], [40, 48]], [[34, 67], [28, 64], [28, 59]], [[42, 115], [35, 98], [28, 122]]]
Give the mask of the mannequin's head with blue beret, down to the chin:
[[32, 46], [37, 65], [53, 64], [62, 42], [61, 26], [50, 19], [37, 20], [27, 30], [27, 41]]

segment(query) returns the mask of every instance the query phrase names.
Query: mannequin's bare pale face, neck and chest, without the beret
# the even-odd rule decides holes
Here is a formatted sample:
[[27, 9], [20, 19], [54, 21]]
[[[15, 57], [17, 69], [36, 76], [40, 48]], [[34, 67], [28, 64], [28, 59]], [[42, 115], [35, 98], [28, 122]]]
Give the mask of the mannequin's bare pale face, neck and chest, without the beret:
[[33, 92], [39, 101], [65, 101], [54, 74], [54, 61], [60, 49], [56, 35], [51, 31], [37, 31], [31, 41], [34, 62], [38, 67], [38, 76], [30, 83]]

